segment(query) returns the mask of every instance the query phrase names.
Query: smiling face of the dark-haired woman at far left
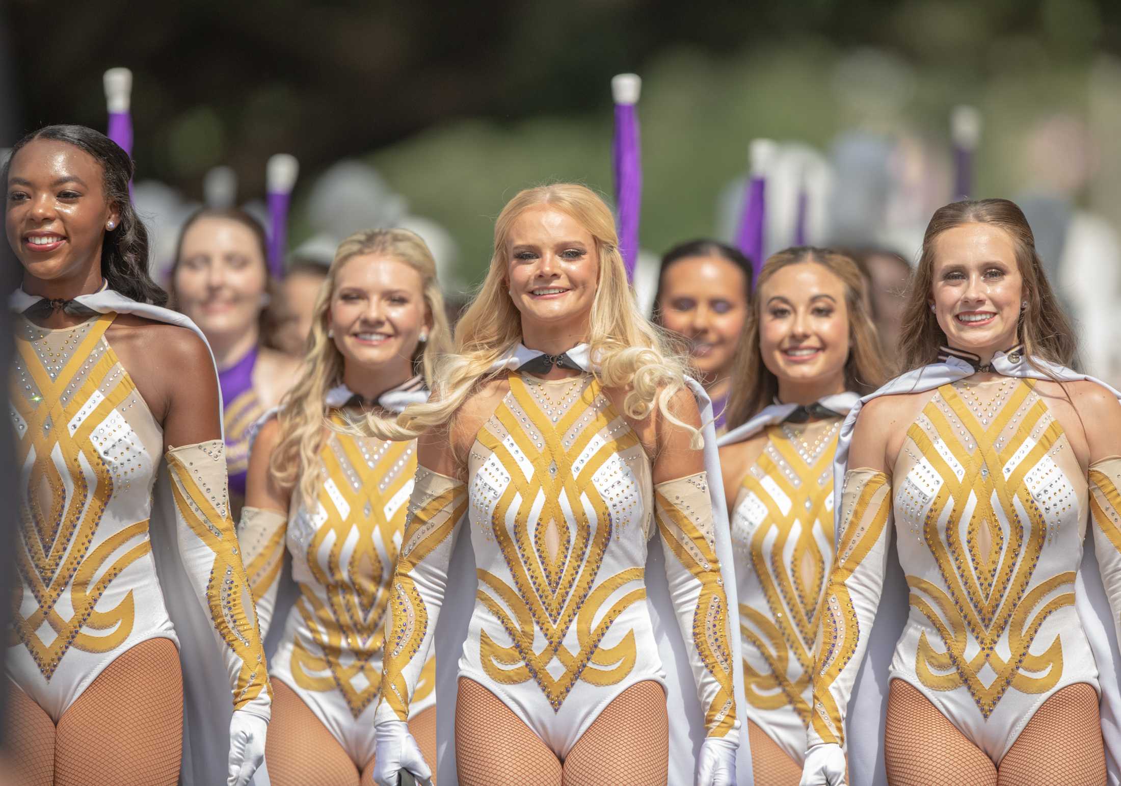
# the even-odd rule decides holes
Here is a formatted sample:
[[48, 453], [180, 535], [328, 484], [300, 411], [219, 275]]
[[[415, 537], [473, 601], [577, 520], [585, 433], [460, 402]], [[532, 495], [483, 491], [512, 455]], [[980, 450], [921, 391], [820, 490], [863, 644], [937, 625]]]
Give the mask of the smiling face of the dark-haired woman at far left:
[[24, 266], [24, 289], [74, 297], [101, 280], [105, 232], [120, 221], [93, 156], [54, 139], [19, 148], [8, 169], [4, 231]]

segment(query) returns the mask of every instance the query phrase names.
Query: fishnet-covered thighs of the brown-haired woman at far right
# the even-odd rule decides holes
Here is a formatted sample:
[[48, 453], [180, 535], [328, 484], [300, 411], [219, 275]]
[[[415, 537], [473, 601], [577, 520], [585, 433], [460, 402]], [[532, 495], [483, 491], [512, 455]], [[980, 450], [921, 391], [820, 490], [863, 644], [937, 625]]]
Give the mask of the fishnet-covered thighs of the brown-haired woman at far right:
[[1104, 786], [1097, 693], [1085, 683], [1055, 693], [998, 770], [917, 688], [892, 679], [883, 758], [892, 786]]

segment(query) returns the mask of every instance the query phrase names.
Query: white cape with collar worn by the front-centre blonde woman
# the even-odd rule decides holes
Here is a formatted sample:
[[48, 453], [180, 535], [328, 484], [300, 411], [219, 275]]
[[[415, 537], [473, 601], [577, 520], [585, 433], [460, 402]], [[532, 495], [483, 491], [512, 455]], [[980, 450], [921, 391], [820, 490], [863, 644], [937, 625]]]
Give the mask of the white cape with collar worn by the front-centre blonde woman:
[[[497, 361], [491, 372], [517, 369], [524, 362], [544, 353], [516, 345]], [[586, 344], [568, 350], [567, 355], [585, 371], [592, 371]], [[720, 475], [720, 460], [716, 453], [716, 432], [712, 425], [712, 401], [696, 381], [688, 386], [701, 408], [701, 419], [705, 424], [704, 464], [708, 473], [708, 491], [712, 497], [712, 512], [715, 521], [716, 556], [724, 579], [724, 592], [729, 605], [729, 638], [733, 663], [741, 662], [739, 603], [735, 597], [735, 576], [732, 567], [732, 544], [729, 536], [728, 511], [724, 506], [724, 490]], [[462, 523], [461, 523], [462, 524]], [[452, 549], [444, 607], [436, 622], [436, 757], [439, 762], [437, 779], [439, 786], [456, 786], [455, 769], [455, 697], [458, 690], [460, 654], [467, 638], [467, 625], [474, 611], [478, 579], [475, 576], [474, 553], [470, 536], [464, 536], [464, 527], [456, 525], [456, 543]], [[704, 711], [696, 695], [696, 683], [689, 668], [682, 639], [680, 628], [669, 598], [666, 583], [665, 554], [661, 542], [649, 544], [646, 561], [647, 607], [654, 623], [654, 636], [658, 641], [663, 671], [666, 674], [666, 702], [669, 708], [669, 778], [673, 786], [691, 786], [696, 778], [697, 755], [705, 738]], [[751, 753], [748, 750], [747, 723], [743, 722], [744, 706], [742, 669], [732, 669], [734, 694], [740, 718], [740, 748], [736, 757], [736, 780], [740, 786], [751, 786]]]

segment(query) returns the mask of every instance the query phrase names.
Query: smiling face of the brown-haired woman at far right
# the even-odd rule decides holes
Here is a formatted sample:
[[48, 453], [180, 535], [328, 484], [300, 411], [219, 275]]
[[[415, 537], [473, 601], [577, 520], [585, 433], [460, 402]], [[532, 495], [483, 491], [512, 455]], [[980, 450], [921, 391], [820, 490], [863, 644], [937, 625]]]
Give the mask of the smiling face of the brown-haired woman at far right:
[[1023, 277], [1011, 235], [990, 223], [942, 232], [935, 246], [930, 305], [954, 349], [989, 362], [1018, 341]]

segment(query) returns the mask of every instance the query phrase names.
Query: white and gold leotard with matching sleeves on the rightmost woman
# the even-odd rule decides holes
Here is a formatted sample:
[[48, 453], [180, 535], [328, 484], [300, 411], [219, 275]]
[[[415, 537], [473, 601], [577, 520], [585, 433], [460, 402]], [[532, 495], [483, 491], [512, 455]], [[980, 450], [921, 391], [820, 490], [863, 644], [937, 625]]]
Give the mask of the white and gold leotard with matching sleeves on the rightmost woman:
[[914, 685], [998, 764], [1051, 694], [1080, 682], [1096, 688], [1075, 577], [1092, 515], [1117, 600], [1119, 464], [1099, 462], [1087, 479], [1032, 379], [938, 387], [890, 478], [846, 473], [810, 743], [844, 742], [892, 519], [910, 611], [890, 677]]

